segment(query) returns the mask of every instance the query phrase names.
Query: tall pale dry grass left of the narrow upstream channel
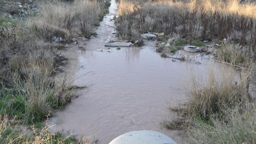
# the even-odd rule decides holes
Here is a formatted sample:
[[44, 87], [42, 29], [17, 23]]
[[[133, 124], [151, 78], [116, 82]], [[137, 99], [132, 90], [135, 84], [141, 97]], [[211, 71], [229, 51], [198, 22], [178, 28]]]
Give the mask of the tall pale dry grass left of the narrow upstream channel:
[[30, 18], [28, 27], [48, 41], [53, 37], [89, 36], [104, 15], [104, 3], [96, 0], [56, 1], [43, 4], [39, 15]]

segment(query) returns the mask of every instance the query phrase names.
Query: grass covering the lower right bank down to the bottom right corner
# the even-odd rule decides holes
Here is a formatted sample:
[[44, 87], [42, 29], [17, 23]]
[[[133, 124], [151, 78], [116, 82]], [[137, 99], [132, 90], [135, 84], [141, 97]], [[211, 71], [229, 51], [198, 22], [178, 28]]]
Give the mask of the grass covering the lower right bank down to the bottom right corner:
[[186, 143], [253, 143], [255, 103], [248, 95], [248, 77], [253, 63], [238, 71], [218, 64], [206, 77], [192, 76], [186, 88], [187, 100], [171, 107], [178, 117], [162, 122], [170, 129], [184, 129]]

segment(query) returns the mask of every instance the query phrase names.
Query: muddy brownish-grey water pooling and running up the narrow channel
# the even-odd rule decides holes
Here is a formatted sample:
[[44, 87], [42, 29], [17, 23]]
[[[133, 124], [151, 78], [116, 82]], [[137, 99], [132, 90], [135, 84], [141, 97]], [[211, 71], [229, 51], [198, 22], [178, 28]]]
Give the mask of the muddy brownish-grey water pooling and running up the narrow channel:
[[210, 56], [180, 50], [173, 57], [185, 56], [184, 62], [162, 58], [155, 52], [156, 41], [147, 40], [142, 47], [108, 49], [104, 43], [117, 40], [112, 34], [114, 29], [109, 27], [116, 9], [112, 0], [110, 13], [101, 21], [96, 38], [79, 41], [61, 52], [69, 59], [64, 68], [68, 80], [88, 88], [65, 109], [54, 112], [48, 124], [55, 125], [52, 130], [64, 133], [95, 135], [98, 144], [107, 144], [134, 130], [158, 131], [180, 143], [179, 132], [161, 128], [160, 122], [174, 115], [169, 105], [184, 100], [184, 86], [191, 71], [205, 75]]

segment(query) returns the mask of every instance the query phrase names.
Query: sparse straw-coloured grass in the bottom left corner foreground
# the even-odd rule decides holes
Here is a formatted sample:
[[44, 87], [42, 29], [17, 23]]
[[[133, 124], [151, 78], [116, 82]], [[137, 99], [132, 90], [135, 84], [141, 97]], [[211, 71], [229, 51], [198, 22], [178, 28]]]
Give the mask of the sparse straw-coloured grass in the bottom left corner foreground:
[[24, 131], [15, 125], [15, 118], [8, 120], [7, 115], [0, 115], [0, 141], [1, 143], [19, 143], [19, 144], [92, 144], [94, 141], [89, 136], [82, 136], [77, 140], [72, 134], [63, 136], [59, 132], [51, 133], [52, 126], [46, 125], [39, 129], [31, 127], [33, 137], [31, 138]]

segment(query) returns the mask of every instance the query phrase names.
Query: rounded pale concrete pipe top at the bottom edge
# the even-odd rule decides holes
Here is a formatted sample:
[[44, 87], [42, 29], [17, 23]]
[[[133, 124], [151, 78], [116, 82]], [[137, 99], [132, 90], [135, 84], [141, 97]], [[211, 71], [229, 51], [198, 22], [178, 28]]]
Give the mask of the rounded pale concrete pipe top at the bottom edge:
[[122, 134], [109, 144], [176, 144], [167, 135], [151, 130], [130, 131]]

